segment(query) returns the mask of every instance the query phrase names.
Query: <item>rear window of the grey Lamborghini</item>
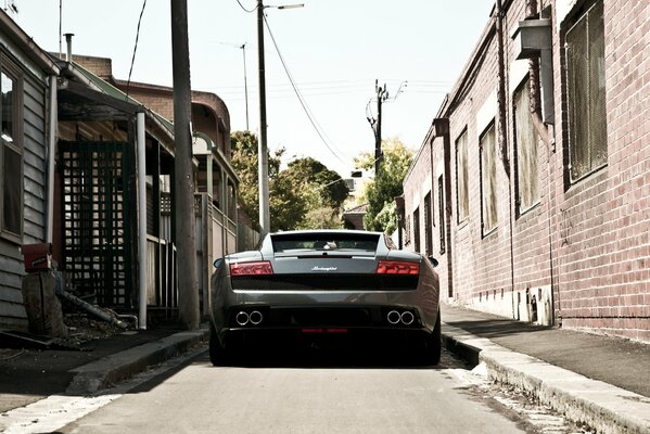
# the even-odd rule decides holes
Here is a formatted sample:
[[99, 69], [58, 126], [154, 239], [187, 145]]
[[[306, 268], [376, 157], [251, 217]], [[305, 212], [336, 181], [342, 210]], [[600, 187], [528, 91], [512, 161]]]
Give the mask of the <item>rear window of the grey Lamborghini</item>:
[[304, 251], [361, 251], [375, 252], [375, 233], [292, 233], [271, 237], [275, 253]]

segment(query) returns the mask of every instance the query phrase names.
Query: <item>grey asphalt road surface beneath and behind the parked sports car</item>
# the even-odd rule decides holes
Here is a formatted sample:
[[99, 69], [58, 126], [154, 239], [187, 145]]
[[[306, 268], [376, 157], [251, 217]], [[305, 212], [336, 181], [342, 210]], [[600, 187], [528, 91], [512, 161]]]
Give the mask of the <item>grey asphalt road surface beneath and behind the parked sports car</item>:
[[[101, 396], [51, 396], [3, 422], [13, 423], [8, 434], [541, 432], [446, 353], [437, 367], [294, 361], [215, 368], [201, 352]], [[545, 432], [574, 431], [560, 422]]]

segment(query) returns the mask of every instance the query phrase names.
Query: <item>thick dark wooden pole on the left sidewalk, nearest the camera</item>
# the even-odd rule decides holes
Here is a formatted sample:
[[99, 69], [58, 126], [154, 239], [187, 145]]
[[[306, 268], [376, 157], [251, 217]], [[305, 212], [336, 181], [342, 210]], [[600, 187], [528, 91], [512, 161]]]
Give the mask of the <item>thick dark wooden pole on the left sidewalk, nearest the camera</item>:
[[199, 286], [194, 245], [194, 178], [192, 167], [192, 88], [188, 42], [188, 2], [171, 2], [171, 64], [174, 73], [175, 218], [178, 257], [178, 316], [187, 330], [199, 328]]

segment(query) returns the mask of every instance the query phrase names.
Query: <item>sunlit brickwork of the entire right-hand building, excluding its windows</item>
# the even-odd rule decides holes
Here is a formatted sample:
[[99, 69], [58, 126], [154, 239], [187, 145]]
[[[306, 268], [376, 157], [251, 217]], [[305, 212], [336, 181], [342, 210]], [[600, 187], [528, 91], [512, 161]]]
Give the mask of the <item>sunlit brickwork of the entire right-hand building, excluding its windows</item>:
[[[504, 56], [506, 74], [506, 131], [510, 176], [497, 162], [498, 225], [482, 233], [479, 141], [497, 116], [497, 42], [489, 25], [468, 61], [441, 113], [449, 120], [451, 149], [444, 155], [442, 138], [433, 129], [405, 180], [406, 215], [423, 209], [422, 184], [435, 178], [434, 216], [438, 224], [437, 176], [450, 162], [451, 254], [439, 255], [441, 293], [453, 283], [451, 303], [507, 317], [532, 320], [535, 296], [539, 316], [565, 328], [585, 329], [650, 342], [650, 4], [643, 0], [604, 2], [607, 166], [578, 182], [569, 183], [568, 113], [564, 35], [576, 11], [591, 0], [563, 3], [553, 22], [556, 125], [551, 140], [539, 140], [537, 168], [539, 203], [523, 213], [515, 206], [517, 165], [513, 93], [527, 81], [528, 61], [517, 61], [509, 36], [525, 17], [525, 1], [505, 2]], [[560, 22], [557, 22], [560, 20]], [[522, 63], [525, 62], [525, 63]], [[456, 140], [468, 135], [469, 218], [458, 221]], [[498, 133], [497, 133], [498, 138]], [[555, 140], [553, 140], [555, 139]], [[433, 162], [429, 144], [433, 141]], [[497, 140], [498, 143], [498, 140]], [[498, 146], [498, 144], [497, 144]], [[423, 225], [424, 219], [420, 219]], [[434, 229], [437, 234], [437, 227]], [[411, 237], [413, 230], [411, 229]], [[420, 228], [424, 234], [425, 229]], [[421, 240], [424, 248], [424, 240]], [[413, 244], [406, 246], [412, 250]], [[448, 256], [448, 257], [447, 257]], [[451, 277], [446, 275], [451, 261]], [[451, 283], [450, 283], [451, 282]], [[552, 299], [551, 299], [552, 290]], [[538, 316], [538, 321], [541, 319]]]

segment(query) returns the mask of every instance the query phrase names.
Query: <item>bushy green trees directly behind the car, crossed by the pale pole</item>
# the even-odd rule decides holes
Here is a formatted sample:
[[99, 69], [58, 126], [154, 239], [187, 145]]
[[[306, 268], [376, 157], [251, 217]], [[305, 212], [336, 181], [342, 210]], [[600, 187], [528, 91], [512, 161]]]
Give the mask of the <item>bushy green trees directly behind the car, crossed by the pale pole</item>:
[[[240, 177], [239, 203], [259, 226], [257, 137], [235, 131], [230, 139], [232, 166]], [[341, 227], [340, 208], [348, 195], [341, 176], [314, 158], [299, 158], [280, 170], [284, 150], [269, 156], [271, 231]]]

